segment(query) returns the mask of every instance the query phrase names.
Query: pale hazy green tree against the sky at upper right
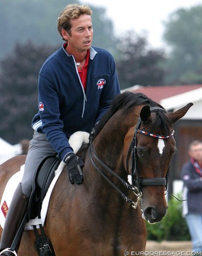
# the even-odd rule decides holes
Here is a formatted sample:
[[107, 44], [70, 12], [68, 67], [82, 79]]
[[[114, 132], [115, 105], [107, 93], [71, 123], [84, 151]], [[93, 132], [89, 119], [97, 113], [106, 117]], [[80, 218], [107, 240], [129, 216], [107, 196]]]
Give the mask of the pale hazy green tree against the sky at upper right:
[[173, 12], [164, 39], [171, 47], [166, 66], [168, 84], [202, 83], [202, 5]]

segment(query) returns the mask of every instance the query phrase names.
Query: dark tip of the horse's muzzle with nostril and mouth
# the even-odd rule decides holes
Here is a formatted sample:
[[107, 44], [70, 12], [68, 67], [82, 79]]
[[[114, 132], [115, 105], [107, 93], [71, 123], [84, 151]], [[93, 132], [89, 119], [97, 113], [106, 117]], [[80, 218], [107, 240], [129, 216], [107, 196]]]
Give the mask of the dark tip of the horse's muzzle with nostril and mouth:
[[142, 213], [142, 218], [153, 224], [161, 221], [167, 212], [167, 207], [158, 209], [155, 206], [148, 206]]

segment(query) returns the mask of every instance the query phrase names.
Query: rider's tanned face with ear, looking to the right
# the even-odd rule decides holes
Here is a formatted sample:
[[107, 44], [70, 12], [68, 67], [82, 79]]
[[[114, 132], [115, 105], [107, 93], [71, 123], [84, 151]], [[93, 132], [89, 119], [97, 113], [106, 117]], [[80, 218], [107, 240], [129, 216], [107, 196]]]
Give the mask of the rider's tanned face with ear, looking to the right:
[[68, 41], [68, 49], [83, 52], [92, 44], [92, 21], [90, 15], [82, 14], [78, 19], [71, 20], [71, 35], [62, 29], [63, 38]]

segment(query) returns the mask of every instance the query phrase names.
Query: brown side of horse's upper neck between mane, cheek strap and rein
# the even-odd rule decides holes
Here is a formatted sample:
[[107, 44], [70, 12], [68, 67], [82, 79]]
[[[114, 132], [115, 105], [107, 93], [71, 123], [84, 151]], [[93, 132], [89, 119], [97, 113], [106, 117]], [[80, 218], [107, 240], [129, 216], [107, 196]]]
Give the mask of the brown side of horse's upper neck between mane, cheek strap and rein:
[[123, 173], [123, 164], [128, 154], [138, 115], [131, 111], [117, 111], [93, 141], [96, 155], [117, 174]]

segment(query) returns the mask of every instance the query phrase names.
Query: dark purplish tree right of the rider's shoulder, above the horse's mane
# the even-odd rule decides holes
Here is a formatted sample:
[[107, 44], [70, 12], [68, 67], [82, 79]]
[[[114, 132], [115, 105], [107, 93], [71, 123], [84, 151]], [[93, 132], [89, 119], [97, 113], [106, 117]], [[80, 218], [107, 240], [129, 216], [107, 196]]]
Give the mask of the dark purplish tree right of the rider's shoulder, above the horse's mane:
[[139, 84], [157, 86], [164, 84], [164, 51], [151, 49], [145, 35], [128, 31], [120, 38], [117, 74], [121, 89]]

